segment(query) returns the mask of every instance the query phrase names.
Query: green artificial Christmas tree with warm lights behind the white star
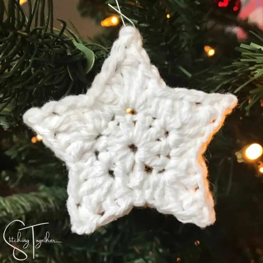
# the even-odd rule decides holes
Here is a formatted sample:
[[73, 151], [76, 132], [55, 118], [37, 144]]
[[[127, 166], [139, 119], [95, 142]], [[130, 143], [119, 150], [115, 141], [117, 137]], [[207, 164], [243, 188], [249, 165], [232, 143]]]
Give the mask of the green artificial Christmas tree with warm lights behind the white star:
[[[118, 15], [107, 3], [115, 6], [115, 1], [86, 0], [78, 8], [82, 16], [101, 23]], [[23, 252], [26, 262], [261, 262], [262, 31], [211, 1], [119, 1], [169, 86], [234, 93], [239, 104], [205, 153], [216, 204], [213, 226], [182, 224], [145, 207], [82, 236], [70, 231], [68, 168], [44, 147], [41, 134], [28, 130], [22, 115], [50, 100], [85, 93], [117, 37], [121, 19], [89, 42], [66, 30], [64, 21], [62, 31], [52, 31], [51, 1], [46, 3], [48, 19], [43, 0], [28, 4], [33, 8], [26, 17], [18, 1], [9, 0], [6, 8], [0, 1], [0, 224], [8, 241], [1, 239], [2, 262], [16, 262], [14, 255], [25, 259]], [[231, 26], [246, 32], [243, 43], [226, 32]], [[252, 143], [259, 145], [259, 154], [246, 151]], [[241, 159], [245, 161], [238, 162]], [[25, 226], [18, 221], [8, 226], [13, 220]], [[18, 229], [47, 222], [34, 228], [37, 248], [33, 250], [28, 229], [20, 231], [17, 242]]]

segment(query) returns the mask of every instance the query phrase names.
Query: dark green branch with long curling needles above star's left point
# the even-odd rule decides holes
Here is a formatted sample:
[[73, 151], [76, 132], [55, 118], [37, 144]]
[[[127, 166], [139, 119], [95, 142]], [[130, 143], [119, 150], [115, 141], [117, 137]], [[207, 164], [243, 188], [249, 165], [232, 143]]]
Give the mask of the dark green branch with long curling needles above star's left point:
[[53, 29], [52, 1], [27, 3], [28, 16], [19, 0], [8, 0], [7, 6], [0, 1], [0, 124], [5, 128], [16, 125], [27, 108], [82, 93], [88, 83], [92, 58], [82, 52], [84, 46], [76, 47], [74, 34], [65, 34], [64, 21], [62, 29]]

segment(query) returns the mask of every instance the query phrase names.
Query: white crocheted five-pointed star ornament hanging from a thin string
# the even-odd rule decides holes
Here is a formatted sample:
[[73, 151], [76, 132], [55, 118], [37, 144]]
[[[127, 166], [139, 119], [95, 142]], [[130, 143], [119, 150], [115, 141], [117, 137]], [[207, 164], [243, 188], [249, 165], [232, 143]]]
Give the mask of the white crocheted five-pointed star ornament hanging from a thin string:
[[90, 234], [145, 204], [205, 227], [215, 211], [202, 154], [236, 104], [231, 94], [168, 87], [127, 26], [86, 94], [23, 119], [67, 165], [73, 232]]

